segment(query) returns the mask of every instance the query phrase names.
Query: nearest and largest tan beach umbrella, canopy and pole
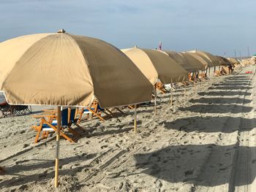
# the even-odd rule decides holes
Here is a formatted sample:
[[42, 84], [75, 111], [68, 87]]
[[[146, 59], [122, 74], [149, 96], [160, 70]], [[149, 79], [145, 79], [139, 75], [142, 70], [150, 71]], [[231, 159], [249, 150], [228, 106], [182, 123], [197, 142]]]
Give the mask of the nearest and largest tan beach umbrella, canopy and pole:
[[0, 91], [9, 104], [58, 106], [56, 187], [61, 106], [101, 107], [151, 100], [151, 83], [124, 53], [99, 39], [31, 34], [0, 43]]

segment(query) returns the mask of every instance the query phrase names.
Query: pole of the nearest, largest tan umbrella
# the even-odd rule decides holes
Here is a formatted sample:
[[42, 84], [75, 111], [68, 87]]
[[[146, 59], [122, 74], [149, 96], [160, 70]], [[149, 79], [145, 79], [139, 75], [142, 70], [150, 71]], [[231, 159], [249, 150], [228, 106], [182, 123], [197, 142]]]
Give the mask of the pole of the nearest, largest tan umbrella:
[[56, 134], [56, 158], [55, 158], [55, 180], [54, 186], [58, 188], [59, 185], [59, 130], [61, 128], [61, 107], [58, 107], [58, 118], [57, 118], [57, 134]]

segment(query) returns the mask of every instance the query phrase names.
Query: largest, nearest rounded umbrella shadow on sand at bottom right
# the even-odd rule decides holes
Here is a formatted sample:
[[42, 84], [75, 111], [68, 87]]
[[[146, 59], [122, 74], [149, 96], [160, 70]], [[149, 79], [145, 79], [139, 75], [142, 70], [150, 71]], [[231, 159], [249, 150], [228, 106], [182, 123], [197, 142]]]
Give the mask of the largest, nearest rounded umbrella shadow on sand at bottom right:
[[[211, 172], [202, 171], [202, 166], [206, 161], [205, 155], [214, 150], [214, 153], [223, 153], [222, 159], [209, 161], [207, 165]], [[135, 155], [136, 166], [143, 169], [141, 173], [148, 174], [157, 179], [165, 180], [169, 183], [195, 183], [195, 185], [217, 186], [227, 183], [227, 174], [230, 172], [230, 164], [224, 164], [225, 158], [230, 158], [234, 150], [241, 153], [250, 153], [255, 147], [237, 147], [236, 145], [175, 145], [156, 150], [152, 153], [142, 153]], [[254, 160], [255, 161], [255, 160]], [[246, 172], [243, 166], [237, 167], [237, 172]], [[208, 170], [208, 169], [207, 169]], [[245, 173], [248, 174], [248, 173]], [[218, 179], [212, 180], [212, 176]], [[246, 177], [240, 178], [236, 185], [248, 185], [255, 179], [252, 175], [251, 180]]]

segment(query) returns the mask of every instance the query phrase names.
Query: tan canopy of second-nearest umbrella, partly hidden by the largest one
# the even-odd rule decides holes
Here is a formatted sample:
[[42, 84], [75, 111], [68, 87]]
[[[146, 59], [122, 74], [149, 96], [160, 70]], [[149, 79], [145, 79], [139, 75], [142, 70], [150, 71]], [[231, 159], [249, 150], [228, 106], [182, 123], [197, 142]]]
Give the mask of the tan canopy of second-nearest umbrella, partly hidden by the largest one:
[[123, 51], [152, 85], [157, 80], [164, 84], [170, 82], [183, 82], [187, 80], [187, 72], [176, 61], [160, 50], [148, 50], [138, 47], [123, 49]]

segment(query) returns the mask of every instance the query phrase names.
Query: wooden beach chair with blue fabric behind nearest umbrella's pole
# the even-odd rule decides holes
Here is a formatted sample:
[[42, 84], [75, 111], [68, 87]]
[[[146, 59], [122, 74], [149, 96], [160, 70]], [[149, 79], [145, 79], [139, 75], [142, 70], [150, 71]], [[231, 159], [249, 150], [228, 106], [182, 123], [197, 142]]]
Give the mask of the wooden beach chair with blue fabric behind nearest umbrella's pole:
[[[50, 112], [47, 114], [46, 112], [42, 115], [32, 115], [34, 118], [40, 118], [41, 121], [37, 126], [32, 126], [37, 131], [37, 136], [35, 138], [35, 142], [39, 142], [39, 136], [42, 132], [42, 139], [46, 139], [48, 137], [48, 134], [50, 131], [57, 131], [57, 115], [56, 113]], [[61, 130], [60, 135], [61, 137], [64, 137], [65, 139], [69, 140], [70, 142], [75, 142], [74, 139], [71, 139], [67, 136], [67, 134], [64, 133], [64, 128], [67, 128], [67, 130], [72, 133], [76, 137], [80, 137], [80, 134], [78, 134], [73, 128], [72, 124], [75, 124], [78, 128], [82, 128], [78, 125], [77, 119], [75, 119], [75, 109], [64, 109], [61, 111]]]

